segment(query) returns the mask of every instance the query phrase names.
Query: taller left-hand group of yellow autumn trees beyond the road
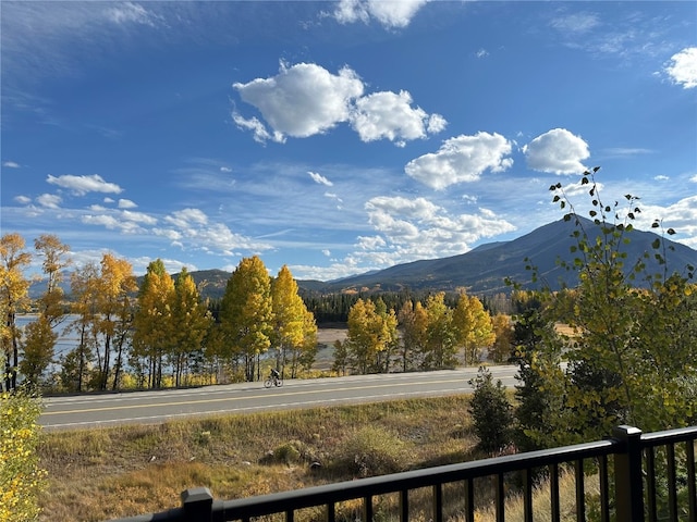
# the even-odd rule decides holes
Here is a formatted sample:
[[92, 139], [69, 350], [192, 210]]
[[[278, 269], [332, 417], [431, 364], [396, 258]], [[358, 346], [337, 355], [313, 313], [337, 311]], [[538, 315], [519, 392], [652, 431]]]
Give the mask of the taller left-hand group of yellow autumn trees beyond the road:
[[[107, 253], [71, 272], [66, 306], [61, 283], [70, 248], [52, 235], [34, 246], [47, 281], [35, 302], [24, 276], [32, 262], [24, 238], [0, 239], [5, 390], [19, 378], [70, 391], [253, 381], [262, 358], [291, 375], [314, 361], [317, 325], [288, 266], [271, 277], [258, 257], [243, 259], [213, 311], [185, 269], [172, 278], [158, 259], [138, 285], [131, 263]], [[36, 320], [20, 328], [17, 315], [29, 309]], [[77, 343], [57, 360], [59, 327]], [[51, 364], [59, 371], [47, 374]]]

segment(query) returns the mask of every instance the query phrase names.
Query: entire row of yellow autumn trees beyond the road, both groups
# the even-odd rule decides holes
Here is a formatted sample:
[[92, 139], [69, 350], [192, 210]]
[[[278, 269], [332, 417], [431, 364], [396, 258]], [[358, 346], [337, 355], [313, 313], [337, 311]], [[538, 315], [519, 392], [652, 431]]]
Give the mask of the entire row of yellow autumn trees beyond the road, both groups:
[[[452, 368], [477, 362], [484, 348], [496, 360], [510, 352], [510, 318], [491, 318], [464, 290], [421, 299], [407, 291], [303, 299], [288, 266], [271, 277], [264, 262], [252, 257], [231, 274], [222, 298], [210, 301], [186, 269], [171, 276], [158, 259], [138, 283], [129, 261], [106, 253], [99, 263], [70, 271], [68, 299], [63, 277], [70, 247], [57, 236], [41, 235], [34, 249], [29, 252], [19, 234], [0, 239], [0, 340], [8, 390], [16, 388], [19, 376], [65, 391], [255, 381], [269, 365], [295, 377], [315, 362], [314, 310], [322, 307], [347, 315], [346, 341], [334, 346], [333, 370], [341, 374]], [[24, 275], [33, 257], [41, 260], [46, 281], [35, 300]], [[36, 320], [20, 328], [17, 314], [27, 310], [36, 312]], [[56, 358], [61, 328], [77, 340]]]

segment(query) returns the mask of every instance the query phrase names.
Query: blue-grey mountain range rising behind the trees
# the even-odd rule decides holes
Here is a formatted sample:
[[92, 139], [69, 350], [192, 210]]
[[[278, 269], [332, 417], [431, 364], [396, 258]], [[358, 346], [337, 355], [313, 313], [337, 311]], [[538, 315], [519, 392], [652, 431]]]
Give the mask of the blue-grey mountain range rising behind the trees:
[[[600, 234], [600, 227], [585, 217], [577, 217], [589, 239]], [[576, 254], [572, 247], [577, 245], [573, 237], [578, 228], [576, 220], [560, 220], [540, 226], [529, 234], [525, 234], [510, 241], [498, 241], [481, 245], [466, 253], [449, 258], [414, 261], [398, 264], [389, 269], [368, 272], [337, 281], [321, 282], [299, 279], [297, 285], [301, 293], [333, 294], [347, 291], [400, 291], [432, 290], [454, 291], [466, 288], [469, 294], [494, 295], [509, 293], [511, 287], [505, 284], [510, 278], [519, 283], [524, 288], [533, 288], [530, 270], [527, 265], [535, 265], [539, 277], [552, 289], [563, 285], [574, 286], [576, 274], [561, 268], [558, 260], [573, 261]], [[665, 238], [664, 248], [656, 250], [652, 245], [660, 236], [652, 232], [634, 229], [625, 233], [629, 239], [623, 244], [621, 250], [626, 253], [626, 270], [645, 253], [649, 257], [646, 273], [656, 274], [667, 271], [685, 273], [686, 266], [697, 266], [697, 250], [683, 244]], [[661, 253], [667, 263], [659, 264], [655, 254]], [[525, 260], [528, 261], [525, 261]], [[222, 270], [204, 270], [191, 272], [204, 297], [221, 298], [231, 273]], [[176, 274], [173, 275], [175, 277]], [[68, 279], [68, 278], [66, 278]], [[641, 286], [641, 277], [637, 277], [637, 286]], [[32, 285], [30, 295], [37, 297], [45, 284], [37, 282]], [[70, 288], [65, 289], [66, 293]]]

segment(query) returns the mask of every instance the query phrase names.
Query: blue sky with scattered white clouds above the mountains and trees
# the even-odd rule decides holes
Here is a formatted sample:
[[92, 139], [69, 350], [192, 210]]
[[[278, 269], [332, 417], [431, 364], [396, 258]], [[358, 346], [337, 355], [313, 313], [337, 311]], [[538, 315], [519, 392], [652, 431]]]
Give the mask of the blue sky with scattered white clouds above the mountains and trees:
[[2, 1], [1, 226], [329, 281], [641, 198], [697, 248], [697, 2]]

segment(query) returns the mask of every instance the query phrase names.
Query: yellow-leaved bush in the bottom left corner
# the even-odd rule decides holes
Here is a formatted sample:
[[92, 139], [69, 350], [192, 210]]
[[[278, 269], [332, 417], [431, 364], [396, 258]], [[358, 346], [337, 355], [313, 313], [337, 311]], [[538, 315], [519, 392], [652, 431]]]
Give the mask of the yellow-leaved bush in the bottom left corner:
[[46, 472], [36, 451], [41, 406], [22, 389], [0, 395], [0, 522], [38, 520]]

